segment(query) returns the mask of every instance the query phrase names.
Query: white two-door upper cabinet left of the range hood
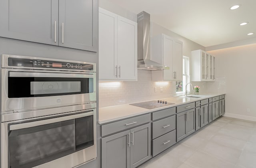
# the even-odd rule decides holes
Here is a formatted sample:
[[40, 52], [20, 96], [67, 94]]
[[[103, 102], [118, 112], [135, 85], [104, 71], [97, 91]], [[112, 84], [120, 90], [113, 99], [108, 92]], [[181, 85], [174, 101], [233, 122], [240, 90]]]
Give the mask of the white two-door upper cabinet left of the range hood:
[[137, 80], [137, 23], [99, 8], [99, 80]]

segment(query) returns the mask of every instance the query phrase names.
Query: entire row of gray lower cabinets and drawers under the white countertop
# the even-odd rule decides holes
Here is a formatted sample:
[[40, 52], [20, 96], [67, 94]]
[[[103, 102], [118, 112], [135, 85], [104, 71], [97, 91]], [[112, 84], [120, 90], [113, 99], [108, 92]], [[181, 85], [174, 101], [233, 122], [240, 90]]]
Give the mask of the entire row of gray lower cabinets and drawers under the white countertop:
[[102, 124], [102, 168], [136, 168], [224, 113], [218, 95]]

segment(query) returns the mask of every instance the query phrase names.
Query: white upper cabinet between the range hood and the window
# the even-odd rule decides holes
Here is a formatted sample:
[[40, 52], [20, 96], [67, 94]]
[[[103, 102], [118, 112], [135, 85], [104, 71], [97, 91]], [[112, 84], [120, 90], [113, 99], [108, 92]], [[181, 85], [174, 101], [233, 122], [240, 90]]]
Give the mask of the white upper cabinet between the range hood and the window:
[[165, 34], [151, 39], [152, 60], [170, 69], [152, 71], [153, 81], [182, 80], [183, 43]]

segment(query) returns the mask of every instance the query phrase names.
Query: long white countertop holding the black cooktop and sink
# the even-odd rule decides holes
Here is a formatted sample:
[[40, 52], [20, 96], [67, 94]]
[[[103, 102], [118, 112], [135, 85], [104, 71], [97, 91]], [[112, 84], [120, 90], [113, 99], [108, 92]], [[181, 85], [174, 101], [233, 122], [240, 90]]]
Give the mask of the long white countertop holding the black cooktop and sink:
[[[225, 93], [210, 93], [210, 94], [207, 93], [204, 95], [193, 95], [193, 96], [197, 96], [200, 98], [179, 97], [179, 96], [167, 97], [167, 98], [159, 99], [159, 100], [164, 100], [164, 101], [167, 101], [168, 103], [175, 103], [175, 104], [169, 105], [169, 106], [164, 106], [164, 107], [159, 107], [159, 108], [155, 108], [155, 109], [145, 109], [142, 107], [137, 107], [137, 106], [133, 106], [133, 105], [129, 105], [129, 104], [110, 106], [110, 107], [102, 107], [102, 108], [99, 108], [99, 124], [104, 124], [104, 123], [108, 123], [111, 121], [125, 119], [128, 117], [134, 117], [136, 115], [142, 115], [142, 114], [150, 113], [152, 111], [167, 109], [170, 107], [182, 105], [184, 103], [199, 101], [199, 100], [203, 100], [203, 99], [207, 99], [207, 98], [215, 97], [215, 96], [219, 96], [219, 95], [224, 95], [224, 94]], [[150, 100], [148, 100], [148, 101], [150, 101]], [[134, 103], [138, 103], [138, 102], [134, 102]]]

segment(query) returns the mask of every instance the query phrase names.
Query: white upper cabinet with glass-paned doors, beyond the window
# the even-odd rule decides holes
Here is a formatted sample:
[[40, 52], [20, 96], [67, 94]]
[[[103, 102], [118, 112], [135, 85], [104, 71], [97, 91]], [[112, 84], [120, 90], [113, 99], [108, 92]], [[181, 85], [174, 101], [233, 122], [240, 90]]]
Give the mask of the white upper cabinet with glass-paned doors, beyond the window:
[[215, 57], [201, 49], [191, 52], [192, 81], [215, 81]]

